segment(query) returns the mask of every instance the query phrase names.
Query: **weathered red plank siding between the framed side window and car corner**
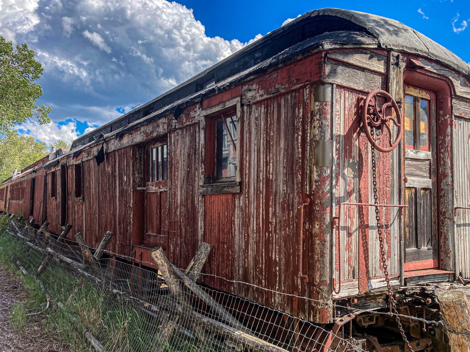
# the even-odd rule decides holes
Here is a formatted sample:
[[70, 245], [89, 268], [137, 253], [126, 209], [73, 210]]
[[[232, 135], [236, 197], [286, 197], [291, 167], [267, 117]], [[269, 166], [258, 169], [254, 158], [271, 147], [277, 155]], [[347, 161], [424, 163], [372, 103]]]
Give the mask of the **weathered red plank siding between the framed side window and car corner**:
[[[237, 280], [279, 292], [300, 291], [296, 273], [299, 207], [305, 182], [305, 115], [304, 89], [243, 109], [238, 234], [242, 247], [234, 253], [241, 256]], [[256, 288], [243, 295], [291, 311], [291, 298]]]

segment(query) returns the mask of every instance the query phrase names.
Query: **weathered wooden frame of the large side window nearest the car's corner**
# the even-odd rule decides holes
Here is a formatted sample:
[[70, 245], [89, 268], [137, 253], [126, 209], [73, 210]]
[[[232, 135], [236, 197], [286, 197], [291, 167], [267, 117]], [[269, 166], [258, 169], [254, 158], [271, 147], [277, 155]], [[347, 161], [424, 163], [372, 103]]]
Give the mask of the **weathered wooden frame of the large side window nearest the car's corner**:
[[[201, 174], [199, 179], [199, 192], [202, 194], [238, 193], [241, 184], [241, 146], [242, 146], [242, 121], [241, 121], [241, 99], [236, 97], [214, 107], [202, 110], [201, 118]], [[216, 123], [230, 116], [236, 119], [236, 144], [235, 176], [216, 178]]]

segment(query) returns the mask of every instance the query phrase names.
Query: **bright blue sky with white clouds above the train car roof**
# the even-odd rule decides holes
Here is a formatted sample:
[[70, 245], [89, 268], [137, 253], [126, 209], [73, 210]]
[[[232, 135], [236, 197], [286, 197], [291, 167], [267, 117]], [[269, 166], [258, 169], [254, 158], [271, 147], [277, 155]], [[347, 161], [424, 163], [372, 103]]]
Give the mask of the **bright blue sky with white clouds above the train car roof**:
[[18, 130], [70, 142], [287, 19], [327, 7], [396, 19], [470, 61], [470, 4], [463, 0], [0, 0], [0, 35], [36, 51], [44, 66], [40, 103], [53, 108], [50, 124]]

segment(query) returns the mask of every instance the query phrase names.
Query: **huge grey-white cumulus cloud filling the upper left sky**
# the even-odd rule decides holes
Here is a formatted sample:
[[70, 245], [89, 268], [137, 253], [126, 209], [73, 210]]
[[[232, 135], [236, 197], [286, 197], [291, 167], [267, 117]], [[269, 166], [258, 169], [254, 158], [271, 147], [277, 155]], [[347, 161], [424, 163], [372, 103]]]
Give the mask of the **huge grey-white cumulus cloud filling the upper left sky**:
[[2, 33], [44, 67], [53, 122], [27, 130], [45, 141], [109, 122], [261, 37], [209, 37], [192, 9], [166, 0], [0, 0]]

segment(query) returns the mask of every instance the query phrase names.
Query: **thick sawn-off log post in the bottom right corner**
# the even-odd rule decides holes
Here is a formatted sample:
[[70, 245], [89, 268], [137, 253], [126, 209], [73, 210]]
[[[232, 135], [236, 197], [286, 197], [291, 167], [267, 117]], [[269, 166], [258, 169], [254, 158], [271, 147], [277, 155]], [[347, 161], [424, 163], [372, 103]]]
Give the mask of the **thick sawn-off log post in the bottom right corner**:
[[470, 351], [470, 307], [465, 292], [444, 291], [438, 300], [451, 352]]

